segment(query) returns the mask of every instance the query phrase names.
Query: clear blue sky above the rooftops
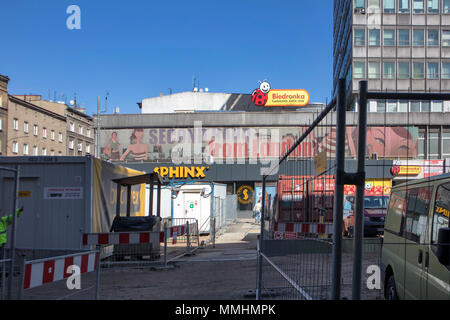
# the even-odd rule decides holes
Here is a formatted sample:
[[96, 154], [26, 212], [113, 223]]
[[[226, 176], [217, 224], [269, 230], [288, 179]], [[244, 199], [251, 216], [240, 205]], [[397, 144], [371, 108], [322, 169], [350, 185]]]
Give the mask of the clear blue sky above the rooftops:
[[[81, 8], [81, 30], [66, 9]], [[10, 94], [77, 94], [88, 113], [109, 92], [108, 113], [138, 113], [136, 102], [190, 91], [306, 89], [330, 100], [332, 1], [1, 0], [0, 74]], [[6, 45], [6, 46], [4, 46]]]

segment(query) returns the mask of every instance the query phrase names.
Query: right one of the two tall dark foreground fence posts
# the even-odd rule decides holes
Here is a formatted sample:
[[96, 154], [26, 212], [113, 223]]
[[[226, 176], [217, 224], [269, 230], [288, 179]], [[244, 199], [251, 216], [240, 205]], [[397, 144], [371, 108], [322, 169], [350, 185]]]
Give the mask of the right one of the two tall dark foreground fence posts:
[[361, 299], [362, 256], [364, 241], [364, 185], [367, 134], [367, 81], [359, 82], [358, 159], [357, 173], [361, 179], [356, 185], [355, 231], [353, 240], [352, 299]]

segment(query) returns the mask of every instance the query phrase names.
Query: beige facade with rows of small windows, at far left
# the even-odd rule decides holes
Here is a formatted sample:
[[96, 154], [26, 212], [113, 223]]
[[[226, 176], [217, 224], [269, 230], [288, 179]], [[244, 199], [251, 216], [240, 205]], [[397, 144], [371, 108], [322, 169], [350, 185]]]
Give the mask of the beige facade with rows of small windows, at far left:
[[64, 116], [9, 97], [7, 156], [34, 155], [35, 148], [37, 155], [65, 155], [65, 137]]

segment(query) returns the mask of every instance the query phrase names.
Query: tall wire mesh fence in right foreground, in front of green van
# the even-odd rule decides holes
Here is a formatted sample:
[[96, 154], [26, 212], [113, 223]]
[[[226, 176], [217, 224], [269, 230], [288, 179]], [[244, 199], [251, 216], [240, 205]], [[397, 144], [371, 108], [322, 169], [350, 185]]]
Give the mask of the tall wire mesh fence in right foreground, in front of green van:
[[[342, 96], [306, 121], [263, 175], [277, 192], [264, 205], [260, 298], [450, 299], [448, 99], [362, 83], [347, 121]], [[328, 250], [311, 253], [318, 243]]]

